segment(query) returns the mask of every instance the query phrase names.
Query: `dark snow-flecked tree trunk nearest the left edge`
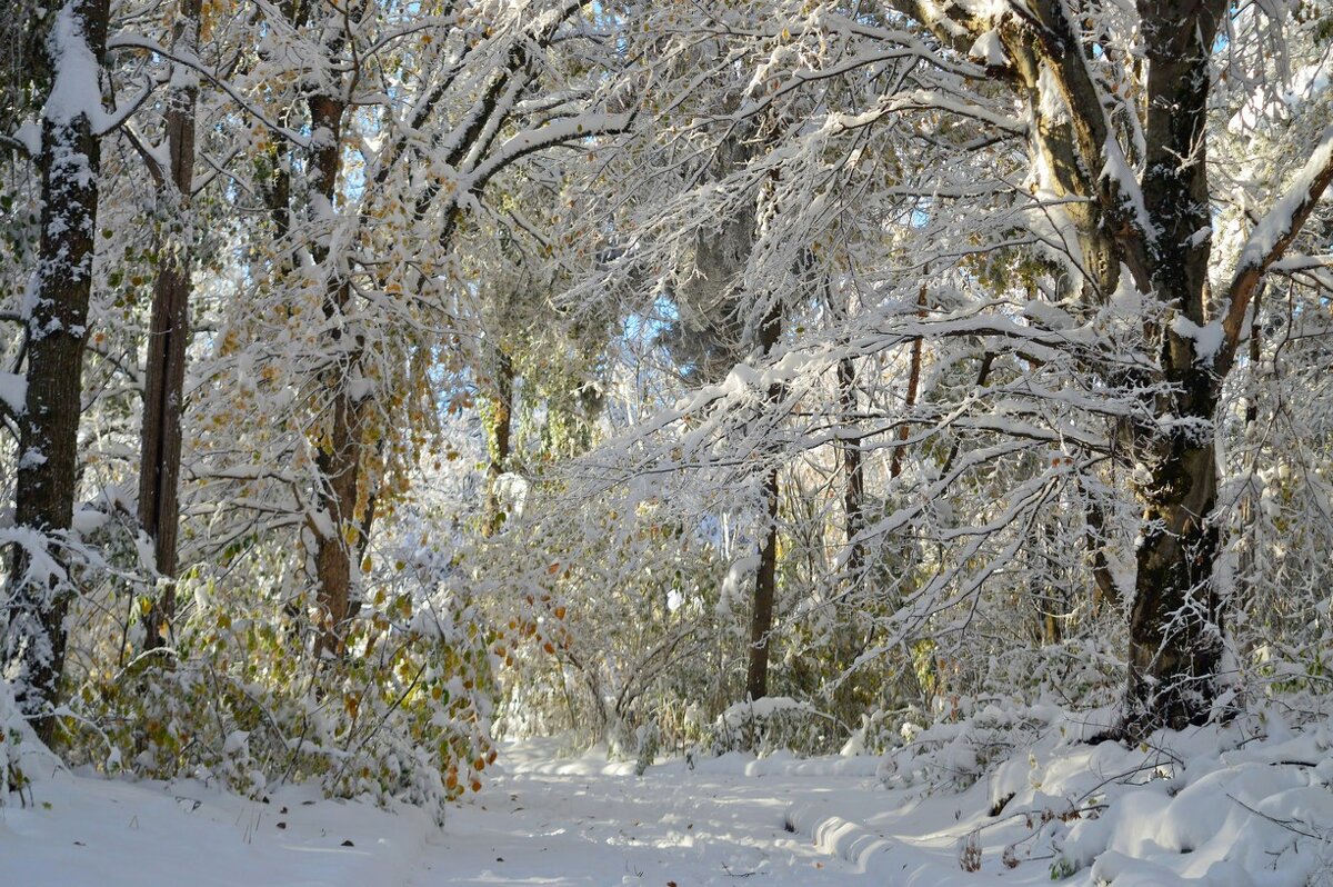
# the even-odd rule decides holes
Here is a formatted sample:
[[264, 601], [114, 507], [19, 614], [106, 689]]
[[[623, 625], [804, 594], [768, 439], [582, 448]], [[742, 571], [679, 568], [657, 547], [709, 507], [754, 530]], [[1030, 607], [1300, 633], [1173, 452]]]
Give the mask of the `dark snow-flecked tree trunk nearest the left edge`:
[[[72, 0], [56, 12], [61, 40], [85, 41], [99, 69], [107, 16], [107, 0]], [[76, 51], [56, 45], [55, 36], [49, 40], [51, 69], [59, 77], [63, 56]], [[25, 317], [28, 389], [19, 416], [15, 524], [51, 539], [67, 532], [73, 516], [100, 145], [88, 115], [73, 108], [48, 105], [41, 129], [41, 257]], [[67, 566], [59, 550], [53, 559], [57, 568]], [[21, 660], [19, 703], [49, 742], [73, 590], [67, 576], [48, 575], [27, 546], [13, 548], [9, 582], [5, 660]]]

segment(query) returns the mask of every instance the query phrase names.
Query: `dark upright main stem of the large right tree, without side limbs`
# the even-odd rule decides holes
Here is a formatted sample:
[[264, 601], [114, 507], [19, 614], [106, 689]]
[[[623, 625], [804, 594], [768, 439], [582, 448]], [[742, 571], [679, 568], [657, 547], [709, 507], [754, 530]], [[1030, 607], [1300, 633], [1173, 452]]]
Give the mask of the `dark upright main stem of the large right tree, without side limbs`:
[[[1225, 8], [1220, 0], [1204, 7], [1194, 0], [1140, 4], [1149, 63], [1142, 192], [1158, 227], [1149, 251], [1152, 287], [1172, 313], [1198, 328], [1209, 320], [1210, 239], [1197, 236], [1210, 224], [1208, 56]], [[1170, 387], [1156, 404], [1161, 423], [1136, 429], [1149, 480], [1138, 490], [1144, 527], [1129, 618], [1125, 728], [1132, 736], [1204, 722], [1222, 655], [1218, 534], [1209, 523], [1217, 504], [1213, 357], [1200, 355], [1197, 341], [1178, 329], [1169, 323], [1161, 331], [1161, 381]]]

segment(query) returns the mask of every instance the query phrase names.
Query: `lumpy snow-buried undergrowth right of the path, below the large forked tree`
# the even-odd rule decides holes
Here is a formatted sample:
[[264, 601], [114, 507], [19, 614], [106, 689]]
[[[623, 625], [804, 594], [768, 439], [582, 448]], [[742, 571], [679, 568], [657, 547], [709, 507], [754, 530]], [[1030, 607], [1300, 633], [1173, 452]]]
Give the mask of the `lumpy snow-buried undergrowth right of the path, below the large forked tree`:
[[1108, 712], [990, 707], [881, 760], [882, 792], [789, 824], [890, 883], [1333, 883], [1333, 722], [1273, 711], [1088, 744]]

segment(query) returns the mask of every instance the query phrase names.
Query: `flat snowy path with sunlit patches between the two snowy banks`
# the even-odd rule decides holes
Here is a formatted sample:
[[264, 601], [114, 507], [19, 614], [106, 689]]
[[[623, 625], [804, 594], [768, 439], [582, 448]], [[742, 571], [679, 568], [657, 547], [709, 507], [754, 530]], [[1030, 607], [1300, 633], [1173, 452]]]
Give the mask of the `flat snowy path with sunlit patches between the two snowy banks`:
[[[714, 764], [714, 762], [708, 762]], [[737, 762], [740, 763], [740, 762]], [[865, 778], [509, 760], [431, 838], [412, 887], [445, 884], [846, 884], [865, 875], [789, 832], [793, 800]], [[813, 774], [812, 774], [813, 775]]]

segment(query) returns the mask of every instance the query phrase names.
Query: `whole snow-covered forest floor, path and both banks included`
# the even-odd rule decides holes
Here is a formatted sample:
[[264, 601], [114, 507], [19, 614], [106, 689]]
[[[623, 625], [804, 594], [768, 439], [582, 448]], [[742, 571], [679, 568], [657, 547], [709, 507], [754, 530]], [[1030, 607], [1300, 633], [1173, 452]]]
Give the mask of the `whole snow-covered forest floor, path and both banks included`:
[[443, 830], [301, 788], [253, 802], [41, 774], [27, 806], [0, 810], [0, 883], [1333, 883], [1326, 726], [1250, 718], [1134, 748], [1077, 742], [1088, 728], [1056, 711], [982, 712], [890, 759], [732, 754], [643, 776], [599, 752], [511, 744]]

